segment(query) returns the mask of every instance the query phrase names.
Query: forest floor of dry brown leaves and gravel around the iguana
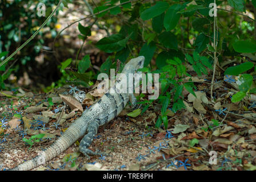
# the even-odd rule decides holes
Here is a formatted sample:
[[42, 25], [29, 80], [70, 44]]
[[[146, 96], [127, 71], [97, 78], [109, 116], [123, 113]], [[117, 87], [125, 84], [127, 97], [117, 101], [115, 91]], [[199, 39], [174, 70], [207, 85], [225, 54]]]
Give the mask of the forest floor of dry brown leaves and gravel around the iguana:
[[[64, 110], [63, 95], [59, 97], [58, 94], [74, 92], [69, 86], [47, 94], [19, 89], [16, 94], [6, 91], [5, 95], [0, 95], [2, 170], [32, 159], [49, 147], [81, 116], [77, 108], [83, 106], [85, 110], [99, 98], [90, 90], [79, 89], [86, 93], [83, 104], [66, 98], [69, 106]], [[16, 97], [8, 98], [7, 94]], [[196, 94], [202, 103], [209, 100], [204, 92]], [[131, 111], [127, 105], [119, 117], [99, 128], [90, 146], [91, 150], [100, 150], [106, 156], [86, 159], [78, 152], [79, 139], [61, 155], [35, 170], [255, 170], [256, 106], [247, 106], [246, 112], [242, 111], [245, 106], [219, 98], [213, 109], [210, 104], [201, 104], [198, 109], [195, 104], [198, 101], [190, 95], [185, 98], [188, 109], [175, 114], [170, 111], [167, 130], [154, 127], [161, 110], [157, 102], [137, 117], [127, 116]], [[70, 103], [73, 111], [69, 109]], [[200, 113], [203, 109], [205, 114]], [[64, 114], [59, 119], [62, 110]], [[61, 124], [57, 125], [57, 121]], [[45, 135], [40, 141], [33, 141], [31, 147], [23, 141], [23, 138], [42, 133]], [[217, 164], [211, 163], [214, 155]]]

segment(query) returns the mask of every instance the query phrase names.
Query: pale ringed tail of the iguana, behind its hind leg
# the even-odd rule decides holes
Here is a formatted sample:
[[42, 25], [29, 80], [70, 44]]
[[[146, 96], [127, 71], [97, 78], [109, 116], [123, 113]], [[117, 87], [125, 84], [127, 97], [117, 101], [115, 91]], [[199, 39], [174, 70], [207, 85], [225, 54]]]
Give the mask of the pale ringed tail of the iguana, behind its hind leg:
[[56, 142], [47, 148], [47, 150], [40, 152], [39, 155], [37, 155], [35, 158], [19, 164], [17, 167], [11, 168], [9, 170], [27, 171], [38, 167], [41, 164], [45, 164], [70, 147], [71, 144], [73, 144], [79, 137], [81, 137], [81, 135], [83, 135], [81, 130], [81, 122], [76, 121], [69, 127], [69, 129], [63, 133], [63, 135]]

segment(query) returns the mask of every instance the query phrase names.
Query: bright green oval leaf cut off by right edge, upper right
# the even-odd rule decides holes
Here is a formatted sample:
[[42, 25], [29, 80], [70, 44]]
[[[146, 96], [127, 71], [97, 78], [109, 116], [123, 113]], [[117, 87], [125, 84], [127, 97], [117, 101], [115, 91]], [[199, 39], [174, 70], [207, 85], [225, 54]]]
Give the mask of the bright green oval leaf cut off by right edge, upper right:
[[256, 44], [250, 40], [238, 40], [233, 43], [233, 48], [237, 52], [254, 53], [256, 52]]

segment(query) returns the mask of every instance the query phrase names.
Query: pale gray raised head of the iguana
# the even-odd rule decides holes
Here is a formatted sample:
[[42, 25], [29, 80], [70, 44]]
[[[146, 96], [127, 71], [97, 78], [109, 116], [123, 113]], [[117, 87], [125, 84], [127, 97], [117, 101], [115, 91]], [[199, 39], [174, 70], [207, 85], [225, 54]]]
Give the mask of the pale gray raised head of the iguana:
[[125, 68], [123, 68], [123, 73], [135, 73], [139, 68], [143, 68], [144, 65], [144, 56], [139, 56], [134, 59], [131, 59], [126, 65]]

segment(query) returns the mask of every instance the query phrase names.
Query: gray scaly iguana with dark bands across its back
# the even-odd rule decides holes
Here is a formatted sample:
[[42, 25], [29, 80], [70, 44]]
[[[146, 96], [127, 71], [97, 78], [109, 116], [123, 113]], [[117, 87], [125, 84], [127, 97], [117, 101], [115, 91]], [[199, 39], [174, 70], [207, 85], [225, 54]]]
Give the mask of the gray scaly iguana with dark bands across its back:
[[[128, 77], [129, 73], [135, 73], [137, 69], [143, 68], [144, 60], [144, 56], [131, 59], [123, 68], [122, 73], [124, 73], [126, 77]], [[122, 75], [117, 78], [115, 86], [122, 84], [122, 78]], [[89, 110], [83, 111], [82, 116], [78, 118], [55, 143], [47, 148], [47, 150], [42, 151], [34, 159], [23, 164], [19, 164], [19, 166], [10, 170], [27, 171], [38, 167], [41, 164], [45, 164], [55, 156], [58, 156], [65, 151], [71, 146], [71, 144], [86, 133], [87, 134], [79, 144], [79, 151], [87, 158], [90, 158], [89, 155], [99, 155], [100, 153], [93, 152], [87, 147], [90, 146], [93, 141], [93, 137], [97, 134], [98, 127], [117, 117], [117, 115], [121, 113], [123, 108], [126, 106], [129, 97], [132, 100], [132, 104], [135, 105], [136, 99], [133, 93], [106, 93], [97, 103], [92, 105]]]

